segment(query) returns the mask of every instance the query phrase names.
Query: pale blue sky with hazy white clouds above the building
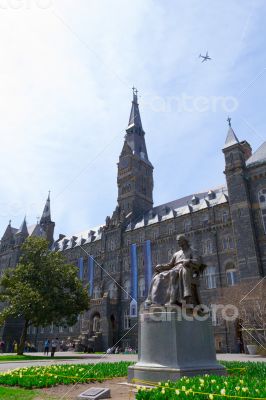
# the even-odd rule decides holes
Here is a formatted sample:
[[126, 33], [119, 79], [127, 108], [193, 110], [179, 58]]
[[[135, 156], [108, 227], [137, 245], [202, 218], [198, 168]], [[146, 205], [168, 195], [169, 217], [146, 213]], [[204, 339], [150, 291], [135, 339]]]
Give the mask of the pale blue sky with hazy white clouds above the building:
[[[265, 140], [265, 1], [1, 0], [0, 229], [102, 224], [134, 84], [155, 205], [224, 183], [227, 116]], [[199, 53], [211, 61], [201, 63]]]

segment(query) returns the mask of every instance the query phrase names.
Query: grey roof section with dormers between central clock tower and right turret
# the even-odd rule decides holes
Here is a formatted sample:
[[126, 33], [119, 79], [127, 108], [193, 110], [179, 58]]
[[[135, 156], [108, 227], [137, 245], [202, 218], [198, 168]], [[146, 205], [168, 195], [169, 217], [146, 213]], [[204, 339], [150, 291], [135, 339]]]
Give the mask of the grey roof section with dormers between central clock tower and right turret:
[[[227, 196], [227, 187], [221, 186], [211, 191], [196, 193], [169, 203], [161, 204], [146, 212], [139, 219], [133, 222], [131, 221], [126, 230], [135, 230], [167, 219], [180, 217], [209, 207], [228, 203]], [[197, 203], [195, 203], [195, 201], [192, 202], [193, 199], [197, 199]]]

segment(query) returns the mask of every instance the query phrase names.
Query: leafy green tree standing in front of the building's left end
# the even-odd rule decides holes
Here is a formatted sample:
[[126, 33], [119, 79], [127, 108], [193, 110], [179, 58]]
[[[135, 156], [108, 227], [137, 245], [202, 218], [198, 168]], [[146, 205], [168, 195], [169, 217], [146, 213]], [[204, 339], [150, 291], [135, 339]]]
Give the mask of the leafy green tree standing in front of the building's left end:
[[89, 307], [88, 287], [78, 279], [77, 268], [61, 253], [51, 252], [45, 239], [27, 238], [21, 252], [16, 268], [0, 279], [0, 301], [5, 304], [0, 322], [10, 317], [24, 321], [18, 354], [23, 354], [29, 326], [72, 326]]

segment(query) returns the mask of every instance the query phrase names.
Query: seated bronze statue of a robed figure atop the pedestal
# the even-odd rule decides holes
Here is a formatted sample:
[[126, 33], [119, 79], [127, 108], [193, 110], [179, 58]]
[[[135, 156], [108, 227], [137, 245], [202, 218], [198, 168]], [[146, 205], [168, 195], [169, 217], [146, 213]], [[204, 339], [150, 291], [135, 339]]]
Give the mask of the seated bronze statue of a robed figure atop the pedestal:
[[184, 235], [177, 236], [181, 250], [177, 251], [168, 264], [155, 267], [146, 306], [173, 306], [200, 304], [199, 274], [204, 270], [200, 256], [193, 250]]

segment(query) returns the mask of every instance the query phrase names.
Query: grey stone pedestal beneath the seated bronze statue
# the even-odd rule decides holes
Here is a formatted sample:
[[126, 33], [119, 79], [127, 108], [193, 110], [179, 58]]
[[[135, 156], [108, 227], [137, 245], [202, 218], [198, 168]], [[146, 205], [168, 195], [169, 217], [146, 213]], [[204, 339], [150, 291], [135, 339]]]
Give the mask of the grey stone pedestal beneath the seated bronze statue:
[[[209, 316], [144, 311], [139, 318], [139, 358], [128, 381], [160, 382], [182, 376], [225, 375], [218, 364]], [[137, 383], [137, 382], [136, 382]]]

